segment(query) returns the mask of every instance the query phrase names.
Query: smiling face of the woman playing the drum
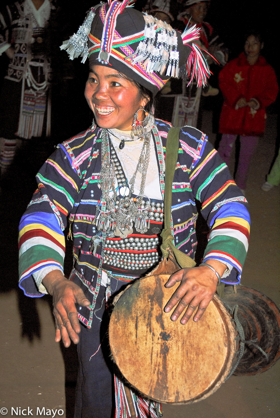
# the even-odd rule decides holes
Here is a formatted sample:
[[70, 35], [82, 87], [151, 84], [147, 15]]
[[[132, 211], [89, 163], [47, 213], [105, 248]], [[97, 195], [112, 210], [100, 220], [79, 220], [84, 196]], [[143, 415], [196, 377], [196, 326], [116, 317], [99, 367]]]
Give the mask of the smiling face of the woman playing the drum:
[[89, 71], [85, 96], [98, 126], [123, 131], [131, 130], [135, 113], [148, 103], [138, 87], [117, 70], [100, 65], [93, 65]]

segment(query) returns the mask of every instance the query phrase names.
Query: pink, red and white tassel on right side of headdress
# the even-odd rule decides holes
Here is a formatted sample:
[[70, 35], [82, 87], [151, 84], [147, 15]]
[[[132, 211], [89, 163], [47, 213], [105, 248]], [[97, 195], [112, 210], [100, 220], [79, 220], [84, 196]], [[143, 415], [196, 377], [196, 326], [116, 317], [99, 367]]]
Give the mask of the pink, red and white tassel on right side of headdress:
[[[204, 87], [211, 73], [201, 49], [193, 43], [194, 40], [199, 39], [199, 32], [200, 29], [195, 25], [187, 27], [182, 34], [182, 40], [184, 45], [188, 45], [192, 49], [186, 63], [186, 74], [190, 79], [188, 86], [195, 80], [198, 87]], [[205, 53], [208, 52], [205, 51]]]

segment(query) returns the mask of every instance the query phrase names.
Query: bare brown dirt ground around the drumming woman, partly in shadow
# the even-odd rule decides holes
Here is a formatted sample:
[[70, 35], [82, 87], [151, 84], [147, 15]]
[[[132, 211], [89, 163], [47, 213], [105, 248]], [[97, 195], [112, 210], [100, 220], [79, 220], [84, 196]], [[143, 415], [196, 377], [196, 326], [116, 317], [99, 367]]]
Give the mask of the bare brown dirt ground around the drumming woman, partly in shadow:
[[[210, 116], [210, 112], [203, 114], [203, 130], [207, 133], [211, 132]], [[246, 190], [251, 238], [242, 284], [258, 289], [279, 306], [280, 188], [270, 192], [260, 190], [274, 157], [277, 137], [277, 116], [268, 116], [266, 133], [251, 164]], [[209, 138], [214, 143], [215, 136], [209, 134]], [[0, 415], [71, 418], [75, 350], [63, 349], [54, 342], [50, 299], [27, 298], [17, 289], [18, 221], [35, 188], [30, 180], [33, 166], [34, 161], [27, 160], [1, 194]], [[232, 159], [231, 171], [233, 166]], [[256, 376], [230, 377], [204, 401], [183, 406], [163, 405], [162, 410], [164, 418], [279, 418], [280, 362]]]

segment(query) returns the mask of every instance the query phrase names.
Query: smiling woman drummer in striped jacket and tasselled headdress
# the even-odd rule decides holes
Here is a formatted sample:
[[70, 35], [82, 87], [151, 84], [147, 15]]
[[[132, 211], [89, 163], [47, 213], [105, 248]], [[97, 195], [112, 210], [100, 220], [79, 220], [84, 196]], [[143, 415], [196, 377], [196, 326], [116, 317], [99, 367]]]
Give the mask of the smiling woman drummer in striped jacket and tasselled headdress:
[[[85, 89], [92, 126], [57, 146], [37, 174], [38, 189], [19, 232], [20, 284], [28, 296], [53, 296], [55, 341], [77, 344], [75, 418], [160, 417], [160, 404], [128, 389], [110, 360], [110, 296], [161, 259], [165, 151], [171, 125], [153, 116], [153, 96], [170, 77], [204, 85], [207, 64], [183, 34], [142, 14], [129, 0], [90, 9], [63, 43], [70, 58], [89, 58]], [[202, 265], [183, 268], [165, 286], [178, 287], [165, 306], [185, 326], [198, 321], [219, 277], [238, 283], [249, 233], [246, 200], [204, 133], [184, 126], [172, 184], [171, 225], [177, 249], [194, 259], [195, 200], [211, 228]], [[170, 208], [169, 208], [170, 210]], [[63, 275], [63, 231], [70, 223], [73, 270]], [[234, 251], [233, 251], [234, 248]], [[200, 261], [199, 261], [200, 262]], [[193, 263], [193, 260], [192, 260]], [[149, 279], [148, 277], [146, 279]], [[172, 312], [172, 313], [171, 313]]]

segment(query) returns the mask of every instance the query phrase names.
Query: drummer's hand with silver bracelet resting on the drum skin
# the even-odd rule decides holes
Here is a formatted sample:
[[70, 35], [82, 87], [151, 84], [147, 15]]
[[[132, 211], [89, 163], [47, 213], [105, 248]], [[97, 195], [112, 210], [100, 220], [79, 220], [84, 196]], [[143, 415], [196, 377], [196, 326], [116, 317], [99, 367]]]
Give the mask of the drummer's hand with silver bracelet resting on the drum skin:
[[[210, 264], [210, 261], [208, 260], [207, 263]], [[216, 268], [219, 273], [223, 274], [227, 266], [216, 260], [215, 263], [221, 265], [221, 269], [218, 270], [216, 265], [214, 265], [214, 268]], [[220, 274], [220, 276], [222, 276], [222, 274]], [[166, 304], [164, 312], [170, 312], [177, 305], [171, 315], [171, 320], [176, 321], [181, 313], [187, 308], [180, 320], [181, 324], [185, 325], [191, 318], [192, 313], [198, 308], [193, 316], [193, 320], [197, 322], [205, 312], [216, 292], [218, 278], [207, 266], [183, 268], [170, 276], [165, 287], [170, 288], [178, 281], [181, 283]]]

